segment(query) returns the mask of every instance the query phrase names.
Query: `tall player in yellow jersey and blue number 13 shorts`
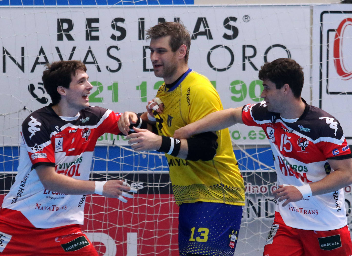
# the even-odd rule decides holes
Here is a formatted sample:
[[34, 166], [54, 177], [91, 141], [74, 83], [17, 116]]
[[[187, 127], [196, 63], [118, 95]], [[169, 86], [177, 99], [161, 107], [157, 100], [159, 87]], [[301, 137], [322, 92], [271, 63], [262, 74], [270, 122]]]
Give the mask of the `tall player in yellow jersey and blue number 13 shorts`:
[[[180, 23], [165, 22], [147, 30], [154, 73], [163, 77], [156, 99], [140, 119], [153, 132], [134, 125], [137, 114], [125, 112], [119, 129], [135, 151], [164, 152], [179, 214], [182, 256], [234, 254], [244, 206], [243, 178], [228, 129], [189, 139], [172, 138], [175, 130], [222, 110], [210, 81], [188, 68], [190, 36]], [[138, 122], [140, 123], [140, 122]]]

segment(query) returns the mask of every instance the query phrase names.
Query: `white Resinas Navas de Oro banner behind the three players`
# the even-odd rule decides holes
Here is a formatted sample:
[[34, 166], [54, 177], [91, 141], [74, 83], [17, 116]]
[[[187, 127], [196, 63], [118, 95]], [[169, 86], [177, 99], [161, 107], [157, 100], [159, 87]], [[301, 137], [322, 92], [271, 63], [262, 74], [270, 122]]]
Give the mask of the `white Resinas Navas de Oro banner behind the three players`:
[[[148, 49], [143, 59], [143, 47], [149, 42], [139, 39], [138, 20], [143, 20], [144, 29], [148, 29], [157, 24], [158, 18], [166, 21], [180, 18], [191, 33], [199, 32], [191, 42], [189, 67], [214, 81], [224, 108], [258, 102], [260, 66], [265, 60], [288, 57], [288, 52], [304, 68], [303, 97], [310, 98], [309, 6], [2, 7], [0, 11], [1, 44], [6, 55], [2, 58], [0, 78], [1, 114], [15, 113], [3, 119], [4, 135], [0, 143], [4, 145], [18, 143], [16, 127], [29, 114], [21, 111], [24, 107], [34, 111], [44, 106], [29, 93], [29, 85], [32, 84], [32, 91], [39, 98], [49, 99], [38, 83], [44, 63], [60, 60], [58, 52], [63, 60], [68, 60], [73, 52], [72, 59], [86, 61], [89, 79], [97, 85], [93, 88], [95, 99], [90, 96], [91, 105], [118, 112], [144, 111], [146, 101], [155, 96], [161, 79], [152, 71], [143, 71], [152, 69], [152, 65]], [[73, 23], [69, 35], [62, 35], [58, 19], [69, 20], [63, 23], [63, 30], [70, 30], [69, 24]], [[113, 20], [116, 26], [111, 25]], [[86, 21], [91, 27], [90, 40], [86, 38]], [[230, 39], [225, 39], [226, 35]], [[68, 40], [69, 36], [73, 40]], [[252, 57], [248, 60], [244, 56]], [[120, 69], [108, 71], [107, 67], [117, 70], [118, 61]], [[210, 65], [226, 70], [215, 71]], [[263, 132], [256, 133], [260, 130], [241, 125], [230, 129], [235, 143], [267, 144]], [[99, 142], [106, 139], [111, 138], [106, 136]]]

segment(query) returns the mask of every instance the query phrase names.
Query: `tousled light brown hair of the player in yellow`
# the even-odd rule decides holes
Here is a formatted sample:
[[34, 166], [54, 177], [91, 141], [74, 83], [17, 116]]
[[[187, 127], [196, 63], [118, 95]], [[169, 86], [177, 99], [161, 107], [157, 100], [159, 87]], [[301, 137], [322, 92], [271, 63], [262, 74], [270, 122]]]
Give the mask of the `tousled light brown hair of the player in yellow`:
[[146, 31], [146, 39], [157, 39], [160, 37], [170, 36], [170, 47], [172, 51], [176, 51], [182, 44], [186, 45], [186, 55], [184, 61], [188, 62], [189, 48], [191, 46], [191, 38], [186, 27], [178, 22], [162, 22]]

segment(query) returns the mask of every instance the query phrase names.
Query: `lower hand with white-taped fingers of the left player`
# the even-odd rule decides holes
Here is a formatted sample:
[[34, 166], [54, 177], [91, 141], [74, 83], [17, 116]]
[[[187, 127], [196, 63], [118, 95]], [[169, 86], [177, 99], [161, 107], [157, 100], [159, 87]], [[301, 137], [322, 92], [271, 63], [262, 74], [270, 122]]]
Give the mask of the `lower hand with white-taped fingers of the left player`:
[[117, 198], [124, 203], [127, 202], [126, 198], [133, 198], [133, 194], [127, 192], [136, 193], [137, 189], [123, 180], [108, 180], [103, 187], [103, 196]]

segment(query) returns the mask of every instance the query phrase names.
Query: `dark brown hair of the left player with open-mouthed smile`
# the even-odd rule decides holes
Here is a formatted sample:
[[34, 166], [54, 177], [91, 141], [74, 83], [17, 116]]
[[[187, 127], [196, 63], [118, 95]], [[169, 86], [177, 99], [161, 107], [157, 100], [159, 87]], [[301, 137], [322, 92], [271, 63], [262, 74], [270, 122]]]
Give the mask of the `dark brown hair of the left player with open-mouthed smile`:
[[61, 100], [61, 95], [57, 92], [58, 86], [69, 88], [71, 76], [76, 75], [78, 69], [87, 71], [86, 65], [81, 61], [55, 61], [47, 63], [43, 72], [42, 80], [46, 92], [50, 95], [52, 104], [56, 105]]

